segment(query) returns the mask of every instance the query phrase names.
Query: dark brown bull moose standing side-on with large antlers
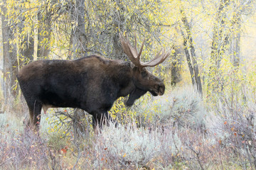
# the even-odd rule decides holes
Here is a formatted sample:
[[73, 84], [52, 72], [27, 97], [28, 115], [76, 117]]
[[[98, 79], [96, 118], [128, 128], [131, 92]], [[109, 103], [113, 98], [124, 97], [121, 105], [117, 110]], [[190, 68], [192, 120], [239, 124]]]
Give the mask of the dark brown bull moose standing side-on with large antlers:
[[119, 34], [122, 49], [131, 62], [108, 60], [97, 55], [76, 60], [38, 60], [18, 72], [17, 78], [28, 105], [28, 125], [38, 130], [41, 109], [81, 108], [92, 115], [92, 123], [110, 120], [107, 111], [120, 96], [128, 96], [126, 106], [149, 91], [153, 96], [164, 94], [164, 83], [148, 72], [164, 62], [170, 51], [161, 50], [150, 62], [141, 62], [144, 42], [139, 52], [135, 35], [134, 47]]

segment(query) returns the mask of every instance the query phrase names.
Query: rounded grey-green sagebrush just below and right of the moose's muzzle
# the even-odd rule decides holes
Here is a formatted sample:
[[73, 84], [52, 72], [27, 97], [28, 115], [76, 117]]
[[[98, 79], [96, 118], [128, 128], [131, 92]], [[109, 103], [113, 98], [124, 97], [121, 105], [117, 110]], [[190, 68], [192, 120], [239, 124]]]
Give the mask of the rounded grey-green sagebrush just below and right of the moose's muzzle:
[[203, 101], [193, 89], [175, 89], [154, 101], [142, 105], [137, 111], [142, 126], [178, 125], [178, 127], [201, 128], [205, 126], [206, 110]]

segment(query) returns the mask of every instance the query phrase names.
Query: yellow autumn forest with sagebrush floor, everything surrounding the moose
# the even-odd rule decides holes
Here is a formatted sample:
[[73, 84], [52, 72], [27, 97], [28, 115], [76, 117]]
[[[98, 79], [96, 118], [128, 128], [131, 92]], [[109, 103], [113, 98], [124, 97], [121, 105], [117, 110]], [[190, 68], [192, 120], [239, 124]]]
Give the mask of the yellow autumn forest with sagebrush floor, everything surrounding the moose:
[[[256, 169], [256, 1], [0, 0], [0, 169]], [[36, 60], [130, 61], [119, 34], [164, 80], [118, 122], [92, 128], [78, 108], [50, 108], [39, 132], [16, 75]], [[81, 92], [82, 93], [82, 92]]]

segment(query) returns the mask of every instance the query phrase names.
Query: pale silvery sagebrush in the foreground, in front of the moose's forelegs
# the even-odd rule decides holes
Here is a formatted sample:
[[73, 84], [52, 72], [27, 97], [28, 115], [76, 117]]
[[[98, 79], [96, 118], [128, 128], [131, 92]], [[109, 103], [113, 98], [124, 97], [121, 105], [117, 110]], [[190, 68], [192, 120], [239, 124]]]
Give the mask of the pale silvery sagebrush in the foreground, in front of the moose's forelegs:
[[[176, 157], [181, 141], [171, 129], [147, 130], [136, 124], [105, 127], [97, 135], [93, 149], [93, 169], [139, 169], [154, 164], [166, 166], [170, 157]], [[83, 167], [85, 168], [85, 167]]]

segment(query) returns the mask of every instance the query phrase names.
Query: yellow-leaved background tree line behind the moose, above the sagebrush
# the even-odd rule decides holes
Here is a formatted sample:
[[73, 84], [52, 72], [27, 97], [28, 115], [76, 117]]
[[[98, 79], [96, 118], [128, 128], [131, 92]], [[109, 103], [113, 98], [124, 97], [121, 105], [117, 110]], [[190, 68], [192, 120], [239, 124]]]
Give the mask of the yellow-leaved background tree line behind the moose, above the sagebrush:
[[240, 81], [230, 81], [229, 74], [244, 76], [241, 36], [247, 21], [253, 22], [254, 9], [252, 0], [3, 0], [5, 104], [18, 96], [18, 69], [32, 60], [90, 54], [127, 60], [119, 44], [119, 33], [124, 32], [137, 33], [139, 41], [146, 38], [144, 60], [161, 47], [172, 47], [169, 62], [156, 72], [173, 85], [189, 75], [201, 96], [205, 91], [204, 96], [214, 101], [215, 95], [230, 92]]

